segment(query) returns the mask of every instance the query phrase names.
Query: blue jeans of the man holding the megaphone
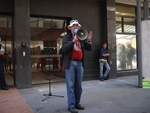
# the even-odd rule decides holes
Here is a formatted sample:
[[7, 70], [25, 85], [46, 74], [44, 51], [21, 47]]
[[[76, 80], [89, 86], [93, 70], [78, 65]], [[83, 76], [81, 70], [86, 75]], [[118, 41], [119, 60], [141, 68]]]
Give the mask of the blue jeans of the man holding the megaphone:
[[70, 62], [70, 68], [65, 70], [68, 108], [80, 103], [82, 94], [83, 66], [80, 61]]

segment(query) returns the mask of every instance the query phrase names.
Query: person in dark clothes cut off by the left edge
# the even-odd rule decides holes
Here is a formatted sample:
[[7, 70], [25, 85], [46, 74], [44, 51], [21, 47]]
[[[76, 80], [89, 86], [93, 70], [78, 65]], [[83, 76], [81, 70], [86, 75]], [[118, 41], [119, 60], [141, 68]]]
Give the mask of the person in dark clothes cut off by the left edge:
[[4, 77], [4, 48], [0, 44], [0, 87], [2, 90], [8, 90]]

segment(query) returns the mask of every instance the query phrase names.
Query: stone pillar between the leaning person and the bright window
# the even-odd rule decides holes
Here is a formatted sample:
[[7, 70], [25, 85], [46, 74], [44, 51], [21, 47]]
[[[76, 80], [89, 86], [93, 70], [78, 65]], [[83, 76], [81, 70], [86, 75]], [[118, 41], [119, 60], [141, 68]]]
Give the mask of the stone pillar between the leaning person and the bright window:
[[110, 78], [117, 77], [117, 66], [116, 66], [116, 6], [115, 0], [107, 0], [107, 42], [108, 42], [108, 51], [109, 64], [111, 71], [109, 73]]

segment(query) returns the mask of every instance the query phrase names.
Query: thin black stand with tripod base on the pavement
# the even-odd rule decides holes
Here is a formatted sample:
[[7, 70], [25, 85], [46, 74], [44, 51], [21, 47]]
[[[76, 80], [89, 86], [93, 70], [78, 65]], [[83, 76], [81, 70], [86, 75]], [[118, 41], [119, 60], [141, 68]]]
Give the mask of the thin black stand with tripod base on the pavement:
[[62, 97], [62, 98], [64, 98], [64, 96], [60, 96], [60, 95], [53, 95], [52, 93], [51, 93], [51, 78], [50, 78], [50, 48], [48, 47], [48, 50], [49, 50], [49, 62], [48, 62], [48, 67], [49, 67], [49, 69], [48, 69], [48, 73], [49, 73], [49, 76], [48, 76], [48, 79], [49, 79], [49, 92], [48, 92], [48, 94], [43, 94], [43, 96], [46, 96], [43, 100], [42, 100], [42, 102], [43, 101], [45, 101], [48, 97], [50, 97], [50, 96], [54, 96], [54, 97]]

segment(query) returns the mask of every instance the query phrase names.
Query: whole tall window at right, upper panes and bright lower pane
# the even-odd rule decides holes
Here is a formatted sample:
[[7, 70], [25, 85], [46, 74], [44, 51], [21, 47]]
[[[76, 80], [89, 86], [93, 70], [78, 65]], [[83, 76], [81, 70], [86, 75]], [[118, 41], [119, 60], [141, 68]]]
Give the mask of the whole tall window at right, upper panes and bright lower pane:
[[137, 69], [135, 7], [116, 4], [117, 70]]

